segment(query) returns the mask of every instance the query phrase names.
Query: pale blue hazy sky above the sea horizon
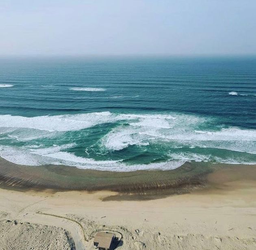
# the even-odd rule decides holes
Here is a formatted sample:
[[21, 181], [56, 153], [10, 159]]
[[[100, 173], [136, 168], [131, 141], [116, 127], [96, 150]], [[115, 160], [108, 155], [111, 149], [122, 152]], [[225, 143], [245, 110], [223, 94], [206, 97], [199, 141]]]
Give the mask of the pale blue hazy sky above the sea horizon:
[[0, 55], [256, 54], [256, 0], [2, 0]]

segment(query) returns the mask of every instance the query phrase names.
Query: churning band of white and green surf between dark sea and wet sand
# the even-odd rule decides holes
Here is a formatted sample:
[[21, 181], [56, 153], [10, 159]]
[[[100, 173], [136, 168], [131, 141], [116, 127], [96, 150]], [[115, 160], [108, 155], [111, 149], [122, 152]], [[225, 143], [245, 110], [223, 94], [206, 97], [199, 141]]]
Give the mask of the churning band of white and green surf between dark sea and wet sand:
[[[0, 115], [0, 139], [0, 155], [21, 165], [135, 171], [174, 169], [191, 160], [256, 162], [256, 130], [221, 127], [215, 118], [182, 113]], [[78, 149], [83, 154], [76, 155]], [[154, 152], [164, 160], [129, 162], [125, 150], [137, 150], [139, 158]]]

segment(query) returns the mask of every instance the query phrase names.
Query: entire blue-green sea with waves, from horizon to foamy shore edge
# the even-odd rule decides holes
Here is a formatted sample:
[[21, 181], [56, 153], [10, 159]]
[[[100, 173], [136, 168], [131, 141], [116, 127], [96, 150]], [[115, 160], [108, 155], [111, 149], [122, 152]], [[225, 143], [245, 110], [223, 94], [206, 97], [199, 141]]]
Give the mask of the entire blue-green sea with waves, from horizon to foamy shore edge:
[[256, 58], [0, 59], [0, 154], [132, 171], [256, 163]]

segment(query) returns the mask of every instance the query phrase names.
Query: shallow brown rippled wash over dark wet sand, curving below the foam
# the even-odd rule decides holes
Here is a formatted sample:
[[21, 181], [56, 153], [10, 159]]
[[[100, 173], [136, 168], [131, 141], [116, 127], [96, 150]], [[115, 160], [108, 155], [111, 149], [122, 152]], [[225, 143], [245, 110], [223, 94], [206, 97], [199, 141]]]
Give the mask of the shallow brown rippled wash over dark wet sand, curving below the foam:
[[0, 158], [0, 186], [24, 190], [111, 190], [123, 194], [169, 190], [170, 194], [180, 194], [204, 185], [206, 175], [216, 167], [187, 162], [170, 171], [109, 172], [60, 165], [21, 166]]

